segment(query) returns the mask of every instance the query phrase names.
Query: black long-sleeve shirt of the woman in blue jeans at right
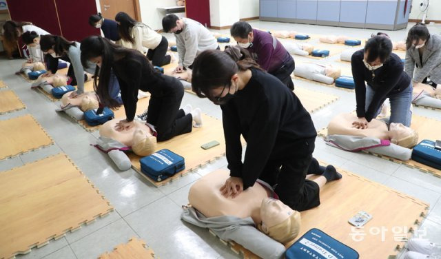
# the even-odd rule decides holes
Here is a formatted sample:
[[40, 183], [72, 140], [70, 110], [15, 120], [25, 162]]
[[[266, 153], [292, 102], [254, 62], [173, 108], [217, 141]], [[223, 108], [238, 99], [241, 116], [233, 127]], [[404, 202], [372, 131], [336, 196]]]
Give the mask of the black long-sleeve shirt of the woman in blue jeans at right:
[[[404, 72], [404, 65], [396, 54], [392, 53], [381, 68], [373, 71], [368, 70], [363, 63], [364, 54], [364, 50], [358, 50], [352, 55], [352, 76], [356, 85], [357, 116], [365, 117], [367, 121], [371, 121], [387, 95], [406, 89], [409, 87], [411, 79]], [[365, 81], [375, 91], [367, 110]]]

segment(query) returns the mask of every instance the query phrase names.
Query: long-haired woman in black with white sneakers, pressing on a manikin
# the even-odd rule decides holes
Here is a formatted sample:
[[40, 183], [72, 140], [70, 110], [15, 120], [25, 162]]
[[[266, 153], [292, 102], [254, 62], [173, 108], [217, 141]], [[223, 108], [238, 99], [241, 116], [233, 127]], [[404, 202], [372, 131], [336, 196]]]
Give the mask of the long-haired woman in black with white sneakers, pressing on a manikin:
[[134, 127], [139, 90], [151, 94], [147, 123], [155, 126], [158, 141], [192, 132], [193, 121], [201, 125], [201, 110], [192, 112], [179, 109], [184, 95], [182, 83], [172, 76], [157, 72], [138, 51], [123, 48], [101, 36], [90, 36], [81, 41], [81, 63], [87, 67], [88, 61], [99, 67], [95, 70], [94, 90], [103, 105], [111, 108], [121, 105], [110, 97], [112, 71], [119, 81], [125, 119], [116, 124], [116, 130]]

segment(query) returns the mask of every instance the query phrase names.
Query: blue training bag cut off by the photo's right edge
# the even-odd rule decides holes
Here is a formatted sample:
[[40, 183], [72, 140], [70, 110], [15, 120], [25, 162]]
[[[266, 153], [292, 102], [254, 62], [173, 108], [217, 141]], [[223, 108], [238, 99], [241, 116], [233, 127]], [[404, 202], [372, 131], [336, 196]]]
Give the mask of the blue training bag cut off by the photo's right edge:
[[435, 149], [435, 142], [422, 140], [412, 149], [412, 159], [430, 167], [441, 169], [441, 150]]

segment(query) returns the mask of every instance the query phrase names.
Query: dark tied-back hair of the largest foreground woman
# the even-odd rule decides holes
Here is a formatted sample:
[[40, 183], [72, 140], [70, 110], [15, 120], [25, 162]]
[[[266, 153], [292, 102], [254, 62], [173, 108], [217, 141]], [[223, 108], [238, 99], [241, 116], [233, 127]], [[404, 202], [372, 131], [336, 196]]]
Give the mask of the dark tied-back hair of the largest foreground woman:
[[250, 68], [262, 70], [256, 61], [249, 57], [236, 63], [225, 52], [205, 50], [196, 57], [193, 63], [192, 91], [200, 98], [213, 101], [212, 90], [231, 86], [234, 74]]

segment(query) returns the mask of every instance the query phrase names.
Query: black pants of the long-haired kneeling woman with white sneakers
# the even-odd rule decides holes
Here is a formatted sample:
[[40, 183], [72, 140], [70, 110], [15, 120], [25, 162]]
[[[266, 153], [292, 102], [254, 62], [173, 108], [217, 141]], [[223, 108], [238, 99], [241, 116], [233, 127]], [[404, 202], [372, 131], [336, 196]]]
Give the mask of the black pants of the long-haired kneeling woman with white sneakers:
[[185, 115], [179, 107], [184, 96], [184, 87], [176, 80], [181, 88], [173, 96], [159, 97], [150, 96], [147, 123], [155, 126], [158, 141], [167, 141], [174, 136], [192, 132], [192, 114]]

